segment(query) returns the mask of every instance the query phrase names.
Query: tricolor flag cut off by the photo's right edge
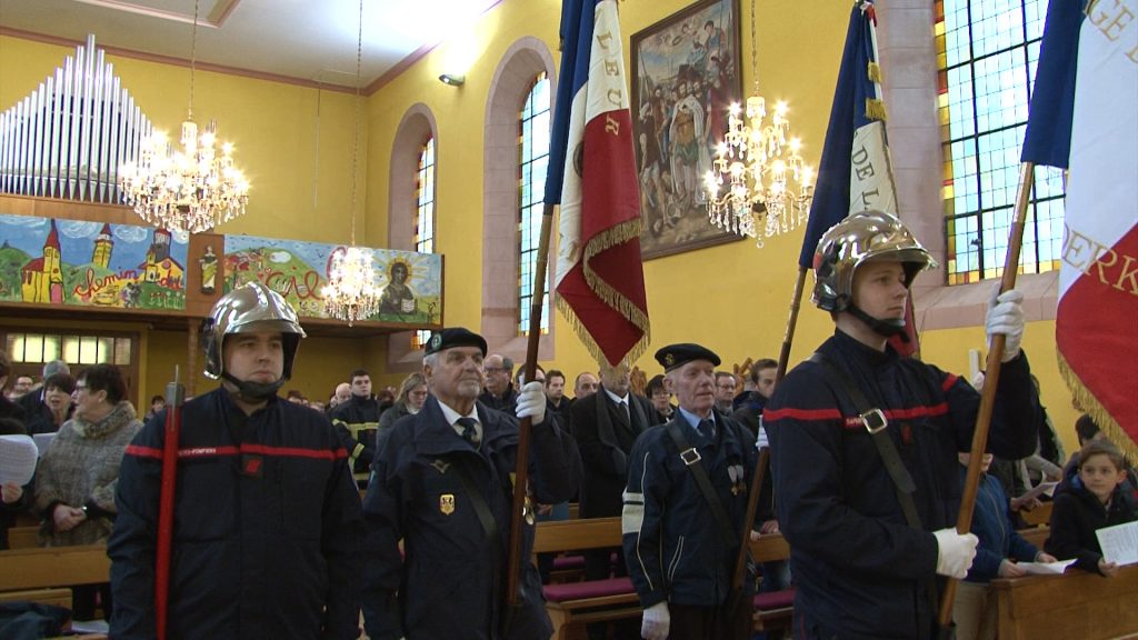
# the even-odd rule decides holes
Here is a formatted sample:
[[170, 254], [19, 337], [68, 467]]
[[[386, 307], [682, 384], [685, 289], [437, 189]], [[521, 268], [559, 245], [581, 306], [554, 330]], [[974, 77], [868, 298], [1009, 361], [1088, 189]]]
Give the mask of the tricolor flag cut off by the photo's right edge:
[[1138, 453], [1135, 10], [1132, 2], [1050, 0], [1022, 156], [1069, 169], [1059, 369], [1083, 409], [1131, 454]]

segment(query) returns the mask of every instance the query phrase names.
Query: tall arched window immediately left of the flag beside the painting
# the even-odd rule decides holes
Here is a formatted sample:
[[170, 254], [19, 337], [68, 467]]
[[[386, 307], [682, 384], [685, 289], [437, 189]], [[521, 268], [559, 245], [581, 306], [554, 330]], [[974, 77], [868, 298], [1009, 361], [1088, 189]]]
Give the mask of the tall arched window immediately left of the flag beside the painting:
[[[529, 334], [534, 301], [534, 269], [541, 244], [542, 199], [550, 164], [550, 80], [541, 73], [521, 108], [518, 139], [518, 335]], [[550, 294], [542, 301], [542, 334], [550, 331]]]

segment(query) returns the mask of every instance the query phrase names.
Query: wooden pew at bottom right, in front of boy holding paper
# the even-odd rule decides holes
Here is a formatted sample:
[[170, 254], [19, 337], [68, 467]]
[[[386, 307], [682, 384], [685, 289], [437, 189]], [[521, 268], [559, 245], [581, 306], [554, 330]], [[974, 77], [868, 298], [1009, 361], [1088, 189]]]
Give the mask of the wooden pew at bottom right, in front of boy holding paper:
[[1064, 575], [992, 581], [1000, 640], [1130, 638], [1138, 630], [1138, 565], [1114, 577]]

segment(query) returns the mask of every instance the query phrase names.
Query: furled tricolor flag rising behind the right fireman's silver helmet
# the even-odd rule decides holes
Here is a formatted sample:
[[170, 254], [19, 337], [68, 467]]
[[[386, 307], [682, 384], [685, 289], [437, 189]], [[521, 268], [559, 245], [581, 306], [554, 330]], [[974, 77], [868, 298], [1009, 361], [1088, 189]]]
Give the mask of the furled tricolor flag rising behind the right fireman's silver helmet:
[[[885, 138], [885, 100], [877, 64], [877, 16], [869, 0], [853, 3], [846, 32], [842, 66], [822, 148], [818, 182], [798, 263], [814, 266], [814, 252], [827, 229], [857, 211], [897, 215], [897, 188]], [[908, 339], [891, 339], [898, 352], [917, 351], [913, 304], [905, 315]]]

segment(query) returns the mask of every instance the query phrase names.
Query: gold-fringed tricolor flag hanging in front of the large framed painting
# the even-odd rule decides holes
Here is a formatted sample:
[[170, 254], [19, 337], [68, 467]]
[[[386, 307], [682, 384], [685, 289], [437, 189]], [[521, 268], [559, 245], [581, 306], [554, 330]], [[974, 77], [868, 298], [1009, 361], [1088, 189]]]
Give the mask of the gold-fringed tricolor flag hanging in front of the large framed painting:
[[545, 202], [561, 203], [558, 309], [597, 359], [649, 343], [633, 123], [616, 0], [563, 0]]

